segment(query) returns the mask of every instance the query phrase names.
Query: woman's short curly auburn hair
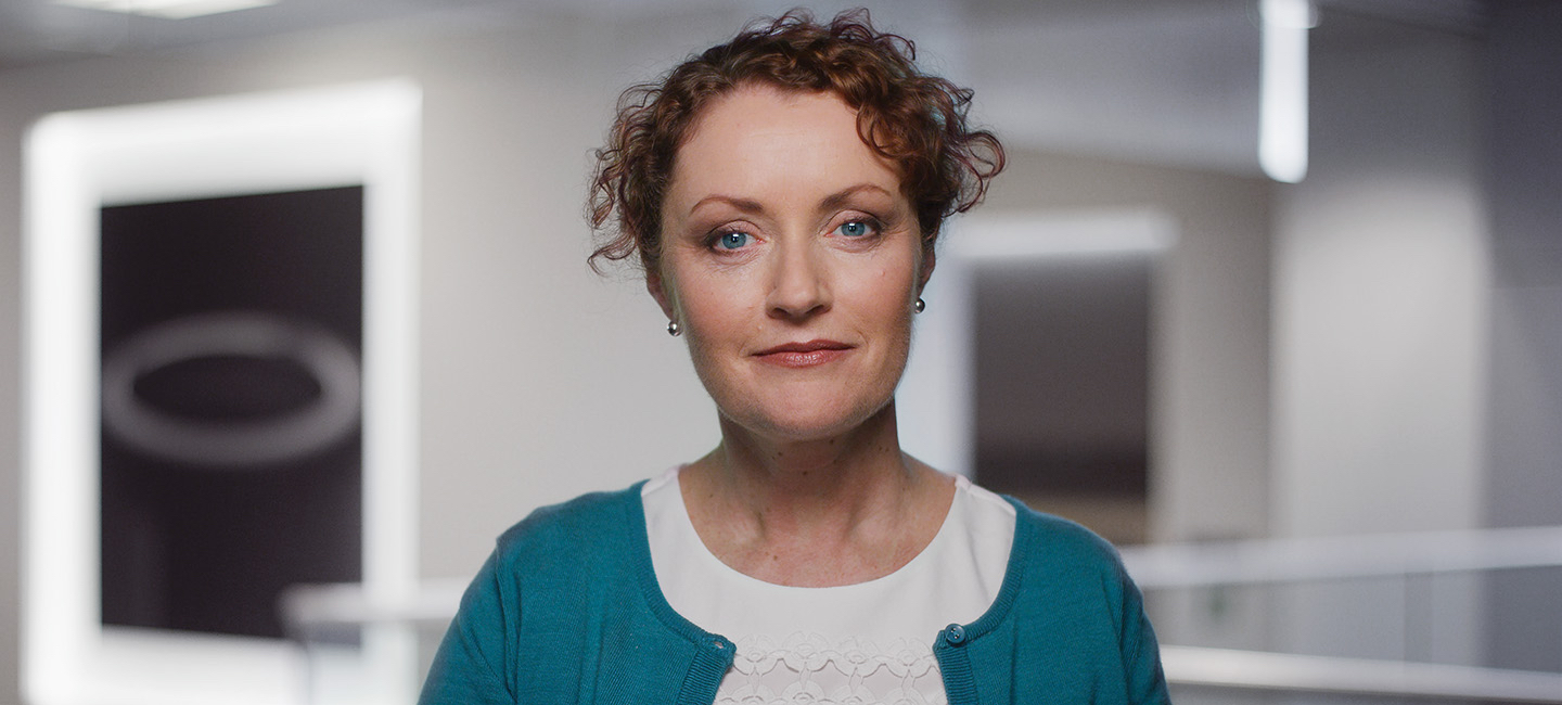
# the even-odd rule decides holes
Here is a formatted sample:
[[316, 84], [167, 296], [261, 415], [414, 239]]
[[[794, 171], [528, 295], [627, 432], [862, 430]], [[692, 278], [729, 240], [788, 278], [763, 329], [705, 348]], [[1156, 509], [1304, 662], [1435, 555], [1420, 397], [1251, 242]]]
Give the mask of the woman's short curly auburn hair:
[[867, 9], [840, 13], [828, 25], [793, 9], [625, 91], [608, 145], [595, 152], [587, 219], [608, 238], [592, 253], [592, 269], [634, 255], [647, 270], [658, 267], [678, 149], [706, 105], [753, 83], [828, 91], [854, 109], [862, 142], [897, 166], [931, 249], [945, 217], [982, 200], [1004, 153], [993, 133], [967, 125], [972, 91], [922, 73], [915, 53], [906, 38], [875, 30]]

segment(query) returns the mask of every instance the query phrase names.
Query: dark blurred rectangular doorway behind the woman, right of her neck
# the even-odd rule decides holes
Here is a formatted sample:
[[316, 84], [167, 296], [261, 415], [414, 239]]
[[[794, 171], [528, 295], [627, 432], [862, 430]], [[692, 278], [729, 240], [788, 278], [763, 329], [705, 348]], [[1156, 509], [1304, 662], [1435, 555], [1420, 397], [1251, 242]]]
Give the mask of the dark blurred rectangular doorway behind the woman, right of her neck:
[[982, 263], [975, 289], [976, 480], [1142, 542], [1153, 253]]

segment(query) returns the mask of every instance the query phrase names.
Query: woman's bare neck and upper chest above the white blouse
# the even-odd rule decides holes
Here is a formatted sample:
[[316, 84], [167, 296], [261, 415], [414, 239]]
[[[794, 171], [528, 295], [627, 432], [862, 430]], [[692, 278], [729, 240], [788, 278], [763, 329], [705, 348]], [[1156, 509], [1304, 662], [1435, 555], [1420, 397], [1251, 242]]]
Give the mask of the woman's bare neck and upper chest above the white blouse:
[[823, 439], [775, 439], [722, 419], [722, 444], [678, 483], [722, 563], [806, 588], [895, 572], [933, 541], [954, 494], [951, 478], [900, 452], [893, 402]]

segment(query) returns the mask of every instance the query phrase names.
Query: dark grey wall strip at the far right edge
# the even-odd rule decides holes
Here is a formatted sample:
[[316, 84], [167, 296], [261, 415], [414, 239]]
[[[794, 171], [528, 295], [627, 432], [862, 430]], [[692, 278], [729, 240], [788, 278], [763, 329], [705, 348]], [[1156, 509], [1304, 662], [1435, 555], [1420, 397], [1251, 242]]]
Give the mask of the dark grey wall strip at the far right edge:
[[[1562, 5], [1493, 5], [1485, 524], [1562, 524]], [[1487, 583], [1487, 663], [1562, 667], [1562, 569]]]

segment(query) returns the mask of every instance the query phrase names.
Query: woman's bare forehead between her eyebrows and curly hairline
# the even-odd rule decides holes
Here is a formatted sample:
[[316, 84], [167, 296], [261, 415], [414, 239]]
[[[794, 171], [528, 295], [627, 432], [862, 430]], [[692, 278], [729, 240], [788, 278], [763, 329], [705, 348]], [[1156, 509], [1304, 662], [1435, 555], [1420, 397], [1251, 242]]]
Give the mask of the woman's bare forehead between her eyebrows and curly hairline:
[[678, 149], [672, 177], [670, 197], [842, 180], [901, 191], [893, 164], [862, 142], [856, 111], [836, 94], [765, 84], [737, 88], [704, 106]]

